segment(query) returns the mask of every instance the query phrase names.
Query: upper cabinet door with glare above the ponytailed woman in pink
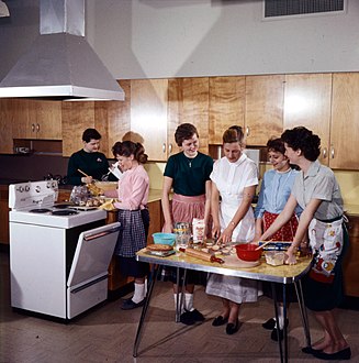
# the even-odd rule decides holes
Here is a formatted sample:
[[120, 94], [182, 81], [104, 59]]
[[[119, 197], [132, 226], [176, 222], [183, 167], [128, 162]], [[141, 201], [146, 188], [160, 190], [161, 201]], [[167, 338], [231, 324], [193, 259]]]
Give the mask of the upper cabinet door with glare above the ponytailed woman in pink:
[[131, 80], [131, 130], [152, 161], [167, 160], [167, 79]]

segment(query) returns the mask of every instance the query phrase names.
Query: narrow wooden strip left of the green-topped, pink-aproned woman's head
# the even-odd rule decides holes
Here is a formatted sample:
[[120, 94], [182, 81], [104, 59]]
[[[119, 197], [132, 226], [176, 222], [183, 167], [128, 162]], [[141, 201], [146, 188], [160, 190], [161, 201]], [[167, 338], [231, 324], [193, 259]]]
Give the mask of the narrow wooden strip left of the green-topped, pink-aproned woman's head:
[[177, 127], [183, 119], [183, 78], [168, 80], [168, 117], [167, 117], [167, 156], [180, 151], [175, 140]]

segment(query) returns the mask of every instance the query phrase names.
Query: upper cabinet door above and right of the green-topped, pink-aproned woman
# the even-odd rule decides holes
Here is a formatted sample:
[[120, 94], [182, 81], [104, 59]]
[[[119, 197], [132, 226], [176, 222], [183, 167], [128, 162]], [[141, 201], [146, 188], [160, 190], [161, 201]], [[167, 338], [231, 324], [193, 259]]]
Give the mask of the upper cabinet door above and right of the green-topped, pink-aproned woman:
[[200, 134], [200, 151], [209, 153], [209, 77], [183, 78], [181, 122], [193, 123]]

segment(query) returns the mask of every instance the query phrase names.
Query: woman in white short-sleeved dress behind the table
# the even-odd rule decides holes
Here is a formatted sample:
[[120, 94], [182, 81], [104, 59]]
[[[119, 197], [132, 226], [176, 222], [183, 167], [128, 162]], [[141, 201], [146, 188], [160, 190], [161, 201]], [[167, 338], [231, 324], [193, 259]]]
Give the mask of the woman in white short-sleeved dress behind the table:
[[[215, 162], [211, 174], [212, 232], [213, 237], [218, 238], [218, 243], [248, 243], [255, 237], [251, 200], [258, 185], [258, 170], [256, 164], [243, 153], [244, 147], [242, 128], [226, 130], [223, 134], [225, 156]], [[256, 280], [217, 274], [210, 275], [206, 293], [222, 298], [223, 311], [212, 324], [218, 327], [226, 323], [227, 334], [239, 329], [240, 304], [254, 302], [258, 298]]]

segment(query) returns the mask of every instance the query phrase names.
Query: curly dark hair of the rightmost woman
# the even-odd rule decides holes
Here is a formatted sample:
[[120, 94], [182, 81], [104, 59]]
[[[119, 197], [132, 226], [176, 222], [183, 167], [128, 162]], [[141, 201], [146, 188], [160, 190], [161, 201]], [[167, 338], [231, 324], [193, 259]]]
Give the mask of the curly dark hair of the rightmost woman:
[[304, 157], [315, 162], [321, 155], [321, 138], [304, 127], [285, 130], [282, 141], [294, 151], [301, 150]]

